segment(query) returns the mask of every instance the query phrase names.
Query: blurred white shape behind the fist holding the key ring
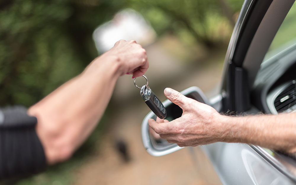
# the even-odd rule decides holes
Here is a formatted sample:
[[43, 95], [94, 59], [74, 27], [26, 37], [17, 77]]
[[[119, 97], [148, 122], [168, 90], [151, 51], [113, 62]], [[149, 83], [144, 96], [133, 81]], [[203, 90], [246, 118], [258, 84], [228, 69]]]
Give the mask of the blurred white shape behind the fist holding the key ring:
[[113, 20], [94, 30], [93, 39], [99, 53], [111, 49], [120, 39], [135, 40], [142, 46], [155, 41], [156, 33], [142, 15], [133, 9], [118, 12]]

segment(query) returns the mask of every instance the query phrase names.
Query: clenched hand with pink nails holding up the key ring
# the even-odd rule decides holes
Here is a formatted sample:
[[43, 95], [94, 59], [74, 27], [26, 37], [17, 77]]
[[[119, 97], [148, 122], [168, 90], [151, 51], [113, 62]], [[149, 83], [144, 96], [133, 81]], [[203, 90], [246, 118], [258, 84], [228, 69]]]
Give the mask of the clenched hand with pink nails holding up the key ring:
[[128, 73], [136, 78], [144, 75], [149, 67], [146, 50], [134, 40], [120, 40], [104, 55], [117, 57], [120, 75]]

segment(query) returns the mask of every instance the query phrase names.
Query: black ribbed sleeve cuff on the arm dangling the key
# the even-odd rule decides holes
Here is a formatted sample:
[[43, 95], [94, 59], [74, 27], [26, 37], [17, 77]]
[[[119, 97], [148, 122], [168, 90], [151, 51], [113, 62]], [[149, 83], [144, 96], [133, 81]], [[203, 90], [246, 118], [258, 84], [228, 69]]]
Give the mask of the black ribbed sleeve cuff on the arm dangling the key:
[[43, 171], [46, 159], [35, 131], [36, 117], [24, 107], [0, 109], [0, 180]]

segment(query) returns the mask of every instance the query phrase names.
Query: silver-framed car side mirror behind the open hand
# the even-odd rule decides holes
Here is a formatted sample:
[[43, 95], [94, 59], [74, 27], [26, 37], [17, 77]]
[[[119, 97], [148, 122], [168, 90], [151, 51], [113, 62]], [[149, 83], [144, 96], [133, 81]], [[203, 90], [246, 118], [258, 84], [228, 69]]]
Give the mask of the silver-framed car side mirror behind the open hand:
[[[199, 102], [210, 105], [207, 97], [198, 87], [195, 87], [195, 86], [189, 87], [188, 89], [181, 91], [181, 93], [189, 98], [192, 98]], [[165, 119], [171, 121], [181, 117], [183, 110], [178, 105], [173, 104], [168, 99], [163, 102], [163, 105], [167, 110], [167, 117]], [[169, 153], [175, 152], [182, 148], [175, 143], [168, 143], [165, 139], [155, 138], [153, 134], [150, 133], [151, 131], [148, 125], [149, 118], [153, 118], [155, 120], [156, 115], [152, 111], [150, 111], [146, 115], [146, 117], [142, 122], [141, 131], [142, 131], [142, 140], [143, 140], [144, 147], [146, 148], [147, 152], [150, 155], [153, 155], [153, 156], [167, 155]]]

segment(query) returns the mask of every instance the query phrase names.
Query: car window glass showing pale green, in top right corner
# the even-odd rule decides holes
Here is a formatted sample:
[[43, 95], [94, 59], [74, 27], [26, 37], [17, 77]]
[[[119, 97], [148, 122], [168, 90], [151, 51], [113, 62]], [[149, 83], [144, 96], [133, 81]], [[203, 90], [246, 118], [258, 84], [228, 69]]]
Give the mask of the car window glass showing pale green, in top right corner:
[[296, 44], [296, 2], [291, 7], [287, 17], [284, 19], [281, 27], [279, 28], [274, 40], [266, 53], [263, 62], [278, 54], [279, 52], [287, 49], [288, 47]]

